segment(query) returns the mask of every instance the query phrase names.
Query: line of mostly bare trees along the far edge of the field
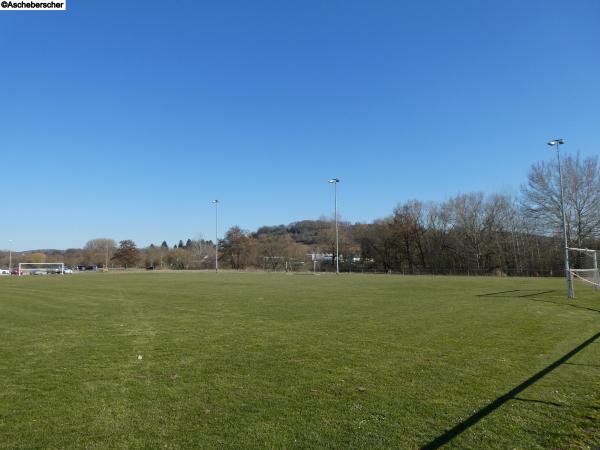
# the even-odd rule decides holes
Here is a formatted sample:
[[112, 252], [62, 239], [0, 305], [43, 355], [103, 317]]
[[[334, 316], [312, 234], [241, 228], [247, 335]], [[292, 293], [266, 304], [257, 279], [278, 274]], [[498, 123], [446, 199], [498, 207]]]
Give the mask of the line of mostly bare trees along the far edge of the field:
[[[598, 157], [563, 160], [565, 214], [571, 246], [599, 248]], [[562, 210], [555, 161], [534, 164], [518, 195], [481, 192], [443, 202], [410, 200], [371, 223], [339, 224], [340, 269], [407, 274], [563, 274]], [[234, 270], [333, 270], [334, 221], [233, 226], [219, 241], [219, 265]], [[64, 261], [113, 268], [211, 269], [213, 241], [186, 239], [138, 248], [131, 240], [93, 239], [82, 249], [16, 255], [14, 261]], [[0, 261], [7, 259], [0, 254]], [[34, 261], [35, 260], [35, 261]], [[585, 262], [575, 255], [575, 266]]]

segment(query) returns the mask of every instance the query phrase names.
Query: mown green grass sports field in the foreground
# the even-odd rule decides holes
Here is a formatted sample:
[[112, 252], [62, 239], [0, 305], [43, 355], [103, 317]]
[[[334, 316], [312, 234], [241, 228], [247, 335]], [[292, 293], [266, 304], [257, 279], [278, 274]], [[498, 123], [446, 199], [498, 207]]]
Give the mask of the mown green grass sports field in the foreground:
[[595, 448], [600, 292], [576, 288], [4, 277], [0, 447]]

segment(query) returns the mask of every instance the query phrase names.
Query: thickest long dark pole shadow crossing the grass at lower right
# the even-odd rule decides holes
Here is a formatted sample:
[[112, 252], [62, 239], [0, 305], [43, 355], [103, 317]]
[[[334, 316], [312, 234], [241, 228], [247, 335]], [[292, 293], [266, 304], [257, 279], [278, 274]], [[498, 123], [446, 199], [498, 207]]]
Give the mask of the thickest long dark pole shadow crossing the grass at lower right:
[[535, 375], [533, 375], [531, 378], [525, 380], [523, 383], [521, 383], [520, 385], [518, 385], [514, 389], [511, 389], [506, 394], [498, 397], [492, 403], [490, 403], [489, 405], [483, 407], [482, 409], [480, 409], [479, 411], [477, 411], [475, 414], [473, 414], [468, 419], [465, 419], [464, 421], [460, 422], [458, 425], [456, 425], [453, 428], [451, 428], [450, 430], [446, 431], [444, 434], [442, 434], [442, 435], [438, 436], [437, 438], [435, 438], [433, 441], [431, 441], [428, 444], [424, 445], [423, 447], [421, 447], [421, 449], [423, 449], [423, 450], [436, 449], [436, 448], [440, 448], [442, 445], [447, 444], [452, 439], [454, 439], [456, 436], [458, 436], [462, 432], [466, 431], [467, 429], [469, 429], [470, 427], [472, 427], [473, 425], [475, 425], [481, 419], [483, 419], [487, 415], [491, 414], [496, 409], [500, 408], [506, 402], [508, 402], [509, 400], [514, 399], [518, 394], [520, 394], [521, 392], [523, 392], [529, 386], [531, 386], [535, 382], [539, 381], [541, 378], [543, 378], [546, 375], [548, 375], [550, 372], [552, 372], [554, 369], [556, 369], [560, 365], [566, 363], [569, 359], [571, 359], [573, 356], [575, 356], [581, 350], [583, 350], [584, 348], [586, 348], [588, 345], [592, 344], [598, 338], [600, 338], [600, 332], [596, 333], [591, 338], [589, 338], [586, 341], [584, 341], [583, 343], [579, 344], [577, 347], [575, 347], [569, 353], [567, 353], [563, 357], [557, 359], [552, 364], [550, 364], [548, 367], [540, 370], [538, 373], [536, 373]]

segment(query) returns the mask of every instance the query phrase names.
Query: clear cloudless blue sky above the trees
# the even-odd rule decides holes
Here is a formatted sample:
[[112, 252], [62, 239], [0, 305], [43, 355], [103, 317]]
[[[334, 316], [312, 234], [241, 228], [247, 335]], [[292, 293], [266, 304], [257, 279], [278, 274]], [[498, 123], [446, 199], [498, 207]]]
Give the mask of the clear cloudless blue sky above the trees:
[[600, 2], [69, 0], [0, 12], [0, 248], [170, 245], [517, 192], [600, 150]]

